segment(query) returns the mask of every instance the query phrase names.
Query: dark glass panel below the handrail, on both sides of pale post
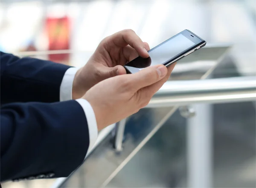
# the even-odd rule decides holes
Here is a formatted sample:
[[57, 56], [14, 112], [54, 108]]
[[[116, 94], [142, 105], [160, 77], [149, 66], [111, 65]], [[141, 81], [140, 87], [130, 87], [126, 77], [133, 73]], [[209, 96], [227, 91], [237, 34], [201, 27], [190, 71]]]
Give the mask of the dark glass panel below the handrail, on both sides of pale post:
[[[255, 106], [252, 102], [246, 102], [216, 104], [210, 108], [213, 142], [212, 155], [209, 156], [213, 166], [210, 187], [254, 187]], [[190, 160], [187, 140], [189, 124], [186, 122], [176, 111], [107, 187], [187, 187]], [[198, 155], [198, 162], [203, 163], [200, 156], [204, 154]], [[204, 181], [203, 177], [201, 181]]]

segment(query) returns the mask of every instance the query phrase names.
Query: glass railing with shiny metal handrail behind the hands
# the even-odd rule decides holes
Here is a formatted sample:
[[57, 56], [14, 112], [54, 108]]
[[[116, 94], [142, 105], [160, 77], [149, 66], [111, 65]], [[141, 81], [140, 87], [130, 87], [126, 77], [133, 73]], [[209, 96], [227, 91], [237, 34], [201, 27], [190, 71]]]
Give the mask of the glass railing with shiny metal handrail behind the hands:
[[[229, 49], [209, 45], [179, 61], [148, 106], [99, 133], [93, 150], [70, 177], [6, 182], [3, 186], [252, 185], [256, 77], [236, 71]], [[90, 57], [90, 52], [76, 54]], [[18, 55], [47, 59], [49, 51]], [[229, 71], [221, 72], [223, 67]]]

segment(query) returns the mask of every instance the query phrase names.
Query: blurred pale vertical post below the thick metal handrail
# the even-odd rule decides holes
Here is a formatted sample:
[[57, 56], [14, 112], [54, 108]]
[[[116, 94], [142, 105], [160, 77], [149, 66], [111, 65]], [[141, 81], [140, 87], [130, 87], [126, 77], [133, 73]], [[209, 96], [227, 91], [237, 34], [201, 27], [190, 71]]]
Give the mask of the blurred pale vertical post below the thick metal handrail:
[[188, 187], [212, 187], [212, 108], [195, 104], [196, 116], [188, 119]]

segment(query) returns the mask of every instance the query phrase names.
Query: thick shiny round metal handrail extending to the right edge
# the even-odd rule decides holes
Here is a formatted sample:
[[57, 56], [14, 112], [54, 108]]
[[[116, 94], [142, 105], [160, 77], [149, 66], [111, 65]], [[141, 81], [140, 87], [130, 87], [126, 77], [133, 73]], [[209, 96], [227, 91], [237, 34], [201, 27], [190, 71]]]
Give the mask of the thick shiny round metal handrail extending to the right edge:
[[154, 95], [146, 108], [251, 101], [256, 98], [256, 77], [169, 81]]

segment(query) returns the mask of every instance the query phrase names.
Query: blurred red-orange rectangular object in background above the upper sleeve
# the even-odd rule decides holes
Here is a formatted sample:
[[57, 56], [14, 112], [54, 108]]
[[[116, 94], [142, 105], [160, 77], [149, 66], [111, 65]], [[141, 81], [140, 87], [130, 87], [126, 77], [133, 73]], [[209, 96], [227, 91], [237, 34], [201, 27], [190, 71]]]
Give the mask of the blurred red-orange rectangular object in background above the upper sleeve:
[[[47, 18], [48, 50], [70, 49], [70, 20], [68, 17]], [[49, 60], [67, 64], [69, 54], [49, 54]]]

